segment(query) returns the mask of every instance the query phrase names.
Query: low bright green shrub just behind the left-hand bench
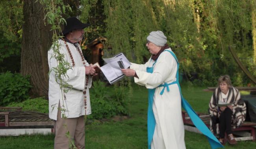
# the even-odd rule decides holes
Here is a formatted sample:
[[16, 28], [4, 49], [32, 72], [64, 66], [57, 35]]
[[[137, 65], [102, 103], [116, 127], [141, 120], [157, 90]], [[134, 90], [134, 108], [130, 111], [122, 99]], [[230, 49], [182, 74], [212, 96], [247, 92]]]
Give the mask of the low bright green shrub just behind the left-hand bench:
[[28, 99], [20, 103], [11, 103], [7, 107], [22, 107], [24, 111], [37, 111], [40, 113], [48, 113], [48, 100], [43, 97]]

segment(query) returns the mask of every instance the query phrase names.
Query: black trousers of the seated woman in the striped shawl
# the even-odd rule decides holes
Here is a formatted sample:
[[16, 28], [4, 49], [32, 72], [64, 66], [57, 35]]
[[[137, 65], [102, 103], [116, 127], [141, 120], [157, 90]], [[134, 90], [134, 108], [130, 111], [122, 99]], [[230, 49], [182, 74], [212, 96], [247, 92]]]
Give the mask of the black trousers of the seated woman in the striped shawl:
[[219, 116], [219, 136], [220, 138], [225, 137], [225, 132], [231, 134], [231, 119], [232, 118], [232, 111], [230, 108], [226, 107], [226, 109], [221, 113]]

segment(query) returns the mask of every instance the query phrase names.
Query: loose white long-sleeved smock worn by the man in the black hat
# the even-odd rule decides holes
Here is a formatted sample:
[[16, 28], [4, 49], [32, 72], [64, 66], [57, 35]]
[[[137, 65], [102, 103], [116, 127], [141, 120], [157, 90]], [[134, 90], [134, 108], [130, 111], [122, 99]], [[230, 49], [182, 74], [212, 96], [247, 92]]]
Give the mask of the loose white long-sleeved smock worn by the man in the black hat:
[[[72, 60], [69, 56], [69, 53], [67, 51], [67, 48], [62, 40], [58, 40], [58, 42], [61, 44], [60, 53], [64, 54], [64, 59], [69, 62], [69, 64], [72, 66]], [[57, 120], [57, 113], [58, 113], [58, 104], [60, 103], [60, 106], [65, 110], [68, 110], [65, 112], [65, 116], [67, 118], [76, 118], [82, 115], [85, 115], [85, 105], [84, 105], [84, 94], [83, 91], [86, 91], [85, 96], [86, 98], [86, 114], [91, 114], [91, 104], [90, 104], [90, 95], [89, 95], [89, 88], [92, 84], [92, 77], [89, 77], [88, 87], [85, 89], [85, 67], [83, 65], [83, 62], [85, 62], [85, 65], [89, 65], [87, 61], [82, 61], [82, 58], [77, 51], [76, 47], [73, 44], [70, 44], [67, 42], [67, 45], [69, 46], [70, 52], [72, 53], [75, 67], [72, 67], [72, 69], [69, 69], [67, 71], [67, 76], [63, 78], [64, 81], [66, 81], [69, 85], [72, 85], [72, 89], [66, 93], [66, 100], [63, 97], [63, 93], [60, 89], [60, 85], [55, 80], [55, 73], [52, 71], [49, 75], [49, 117], [53, 120]], [[77, 44], [78, 47], [81, 50], [81, 47], [79, 44]], [[48, 51], [48, 65], [49, 69], [51, 70], [53, 67], [57, 67], [57, 61], [55, 58], [53, 58], [53, 49], [51, 48]], [[54, 108], [52, 108], [52, 106]], [[63, 111], [61, 111], [63, 113]], [[61, 114], [62, 117], [63, 114]]]

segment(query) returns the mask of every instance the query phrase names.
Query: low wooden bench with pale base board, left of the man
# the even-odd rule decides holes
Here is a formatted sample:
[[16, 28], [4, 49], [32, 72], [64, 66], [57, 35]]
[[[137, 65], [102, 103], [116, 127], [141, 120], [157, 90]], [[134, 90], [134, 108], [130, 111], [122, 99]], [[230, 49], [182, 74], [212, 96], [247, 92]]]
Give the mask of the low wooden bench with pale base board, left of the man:
[[0, 107], [0, 136], [54, 132], [54, 122], [48, 114], [21, 109]]

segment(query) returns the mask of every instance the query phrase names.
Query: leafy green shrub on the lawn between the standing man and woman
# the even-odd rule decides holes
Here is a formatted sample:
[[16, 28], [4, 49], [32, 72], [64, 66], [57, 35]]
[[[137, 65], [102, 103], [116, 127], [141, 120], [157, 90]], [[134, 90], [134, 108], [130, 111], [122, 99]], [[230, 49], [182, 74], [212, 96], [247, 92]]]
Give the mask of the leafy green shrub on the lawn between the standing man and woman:
[[106, 87], [104, 82], [93, 82], [90, 89], [92, 114], [89, 119], [111, 118], [115, 115], [128, 114], [127, 92], [124, 87]]

